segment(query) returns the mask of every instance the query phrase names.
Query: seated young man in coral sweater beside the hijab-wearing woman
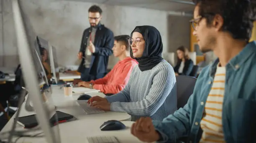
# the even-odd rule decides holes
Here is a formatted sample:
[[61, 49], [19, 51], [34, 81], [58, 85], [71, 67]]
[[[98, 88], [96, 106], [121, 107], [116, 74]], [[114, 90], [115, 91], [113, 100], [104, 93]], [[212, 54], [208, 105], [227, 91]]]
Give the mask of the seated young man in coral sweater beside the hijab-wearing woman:
[[95, 81], [82, 81], [78, 86], [83, 86], [91, 89], [97, 89], [106, 95], [117, 94], [124, 89], [128, 83], [131, 71], [138, 62], [130, 57], [130, 46], [128, 44], [128, 35], [120, 35], [114, 37], [113, 54], [118, 57], [119, 62], [115, 64], [113, 69], [102, 79]]

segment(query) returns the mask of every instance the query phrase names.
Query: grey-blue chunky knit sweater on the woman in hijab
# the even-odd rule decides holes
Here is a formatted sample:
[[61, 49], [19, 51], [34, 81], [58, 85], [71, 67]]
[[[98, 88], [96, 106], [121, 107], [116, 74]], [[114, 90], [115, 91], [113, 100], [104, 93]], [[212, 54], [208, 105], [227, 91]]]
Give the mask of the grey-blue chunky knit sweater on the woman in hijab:
[[125, 89], [105, 98], [111, 103], [111, 111], [126, 112], [131, 121], [142, 116], [162, 121], [177, 110], [174, 70], [165, 60], [143, 72], [137, 65]]

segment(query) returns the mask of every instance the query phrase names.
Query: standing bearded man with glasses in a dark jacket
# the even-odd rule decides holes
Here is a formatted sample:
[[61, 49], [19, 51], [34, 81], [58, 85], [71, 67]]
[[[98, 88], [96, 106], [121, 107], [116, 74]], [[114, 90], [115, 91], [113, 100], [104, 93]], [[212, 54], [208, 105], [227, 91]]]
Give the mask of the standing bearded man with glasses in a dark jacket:
[[78, 58], [82, 59], [78, 72], [82, 81], [103, 78], [107, 73], [108, 57], [113, 54], [113, 32], [100, 24], [102, 10], [92, 5], [89, 10], [90, 27], [84, 30]]

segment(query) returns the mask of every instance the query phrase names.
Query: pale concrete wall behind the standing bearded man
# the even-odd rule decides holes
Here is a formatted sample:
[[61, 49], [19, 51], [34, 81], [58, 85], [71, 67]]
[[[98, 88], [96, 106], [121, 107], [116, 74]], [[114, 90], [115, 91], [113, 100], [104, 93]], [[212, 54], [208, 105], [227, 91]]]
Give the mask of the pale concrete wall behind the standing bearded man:
[[[8, 2], [10, 0], [3, 1], [4, 9], [8, 11], [4, 14], [4, 19], [8, 22], [3, 23], [6, 30], [4, 30], [5, 42], [2, 49], [5, 50], [5, 55], [10, 54], [16, 57], [15, 60], [5, 57], [5, 63], [2, 66], [7, 66], [10, 63], [11, 65], [18, 64], [18, 52], [10, 2]], [[78, 65], [77, 52], [82, 32], [90, 26], [87, 11], [93, 3], [52, 0], [23, 0], [23, 2], [35, 32], [56, 47], [59, 65]], [[130, 35], [136, 25], [152, 25], [160, 31], [164, 51], [168, 51], [167, 12], [112, 5], [100, 5], [100, 7], [103, 10], [102, 24], [110, 28], [114, 35]], [[113, 67], [117, 61], [111, 56], [109, 67]]]

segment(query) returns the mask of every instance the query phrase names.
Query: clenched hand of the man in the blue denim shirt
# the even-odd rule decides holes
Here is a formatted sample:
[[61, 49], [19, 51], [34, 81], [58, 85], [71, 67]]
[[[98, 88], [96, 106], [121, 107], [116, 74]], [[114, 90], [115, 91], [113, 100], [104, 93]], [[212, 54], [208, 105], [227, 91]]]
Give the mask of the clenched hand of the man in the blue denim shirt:
[[140, 118], [133, 123], [131, 134], [143, 142], [154, 142], [160, 139], [159, 133], [155, 130], [151, 118]]

